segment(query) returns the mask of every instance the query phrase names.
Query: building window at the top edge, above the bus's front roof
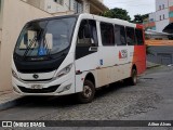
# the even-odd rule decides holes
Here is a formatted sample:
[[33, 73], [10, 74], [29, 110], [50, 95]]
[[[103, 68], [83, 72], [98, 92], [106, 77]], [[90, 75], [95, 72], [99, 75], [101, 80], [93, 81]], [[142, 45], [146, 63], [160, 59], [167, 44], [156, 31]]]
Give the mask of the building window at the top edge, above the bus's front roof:
[[75, 13], [83, 13], [83, 2], [80, 0], [74, 1]]

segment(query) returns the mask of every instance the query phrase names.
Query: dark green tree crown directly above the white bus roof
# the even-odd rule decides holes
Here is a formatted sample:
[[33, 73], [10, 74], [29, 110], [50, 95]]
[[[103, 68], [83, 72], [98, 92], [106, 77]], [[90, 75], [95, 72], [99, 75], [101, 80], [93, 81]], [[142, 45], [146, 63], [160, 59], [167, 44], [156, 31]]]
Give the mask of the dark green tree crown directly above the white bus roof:
[[104, 12], [102, 15], [106, 16], [106, 17], [110, 17], [110, 18], [120, 18], [120, 20], [131, 22], [131, 17], [128, 14], [128, 11], [123, 10], [123, 9], [119, 9], [119, 8], [108, 10], [108, 11]]

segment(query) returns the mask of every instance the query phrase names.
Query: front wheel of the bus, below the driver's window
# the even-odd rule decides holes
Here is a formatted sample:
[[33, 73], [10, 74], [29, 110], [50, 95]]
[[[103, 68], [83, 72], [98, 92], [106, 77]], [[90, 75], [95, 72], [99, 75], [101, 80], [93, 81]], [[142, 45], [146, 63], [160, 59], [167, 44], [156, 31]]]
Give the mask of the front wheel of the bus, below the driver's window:
[[95, 95], [95, 87], [92, 81], [85, 80], [83, 83], [83, 91], [77, 94], [80, 103], [91, 103]]

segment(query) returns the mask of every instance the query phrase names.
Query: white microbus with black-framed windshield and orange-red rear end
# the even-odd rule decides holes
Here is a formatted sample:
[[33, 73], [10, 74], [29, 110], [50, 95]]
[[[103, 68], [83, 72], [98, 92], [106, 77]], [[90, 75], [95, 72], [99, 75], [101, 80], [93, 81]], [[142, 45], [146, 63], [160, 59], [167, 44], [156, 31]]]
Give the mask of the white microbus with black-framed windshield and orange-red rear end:
[[22, 95], [77, 93], [89, 103], [99, 87], [125, 79], [136, 84], [146, 69], [141, 25], [92, 14], [27, 23], [12, 58], [14, 91]]

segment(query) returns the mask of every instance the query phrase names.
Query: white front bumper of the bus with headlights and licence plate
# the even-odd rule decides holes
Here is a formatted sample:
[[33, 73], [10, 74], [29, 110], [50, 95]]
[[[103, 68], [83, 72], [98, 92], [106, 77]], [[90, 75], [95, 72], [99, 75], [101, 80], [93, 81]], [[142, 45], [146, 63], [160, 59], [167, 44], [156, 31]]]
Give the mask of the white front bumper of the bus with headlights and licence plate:
[[[14, 91], [19, 95], [67, 95], [75, 93], [74, 78], [63, 78], [64, 80], [56, 79], [46, 82], [37, 81], [23, 81], [12, 78]], [[66, 80], [65, 80], [66, 79]], [[42, 88], [32, 89], [32, 86], [41, 86]]]

